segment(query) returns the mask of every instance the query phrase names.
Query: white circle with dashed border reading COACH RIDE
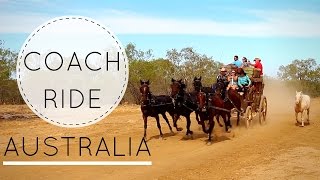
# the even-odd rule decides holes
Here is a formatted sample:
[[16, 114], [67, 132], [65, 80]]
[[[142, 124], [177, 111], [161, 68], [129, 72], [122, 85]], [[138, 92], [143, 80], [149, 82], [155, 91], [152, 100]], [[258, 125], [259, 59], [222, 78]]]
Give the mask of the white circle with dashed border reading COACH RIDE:
[[63, 16], [36, 28], [17, 61], [17, 83], [26, 104], [61, 127], [94, 124], [120, 103], [128, 60], [110, 29], [81, 16]]

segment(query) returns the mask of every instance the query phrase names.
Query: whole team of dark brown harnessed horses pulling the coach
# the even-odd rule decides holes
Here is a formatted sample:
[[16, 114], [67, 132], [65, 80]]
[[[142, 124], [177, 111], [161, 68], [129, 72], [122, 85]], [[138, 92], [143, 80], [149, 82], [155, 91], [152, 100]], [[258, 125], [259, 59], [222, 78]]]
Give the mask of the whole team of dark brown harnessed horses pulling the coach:
[[[165, 119], [169, 126], [171, 133], [173, 133], [172, 127], [166, 116], [166, 112], [170, 114], [173, 119], [173, 126], [177, 131], [182, 131], [181, 127], [178, 127], [177, 120], [183, 116], [187, 121], [187, 136], [191, 136], [193, 132], [190, 129], [191, 119], [190, 114], [195, 112], [196, 120], [199, 125], [202, 126], [204, 133], [208, 134], [208, 143], [211, 143], [211, 135], [215, 125], [214, 118], [216, 118], [220, 127], [223, 125], [219, 121], [219, 117], [222, 117], [224, 121], [225, 131], [230, 132], [231, 125], [231, 109], [240, 109], [241, 100], [238, 92], [232, 88], [227, 91], [227, 98], [222, 98], [222, 92], [224, 85], [222, 83], [214, 84], [214, 90], [211, 87], [203, 87], [201, 83], [201, 77], [194, 78], [193, 87], [191, 92], [186, 91], [186, 84], [180, 80], [171, 80], [171, 94], [169, 95], [153, 95], [149, 88], [149, 80], [140, 80], [140, 93], [141, 93], [141, 112], [144, 120], [144, 137], [147, 136], [147, 118], [154, 117], [157, 121], [157, 126], [160, 132], [160, 138], [163, 138], [161, 130], [159, 115]], [[239, 124], [239, 113], [237, 115], [237, 125]], [[208, 121], [209, 127], [206, 126]]]

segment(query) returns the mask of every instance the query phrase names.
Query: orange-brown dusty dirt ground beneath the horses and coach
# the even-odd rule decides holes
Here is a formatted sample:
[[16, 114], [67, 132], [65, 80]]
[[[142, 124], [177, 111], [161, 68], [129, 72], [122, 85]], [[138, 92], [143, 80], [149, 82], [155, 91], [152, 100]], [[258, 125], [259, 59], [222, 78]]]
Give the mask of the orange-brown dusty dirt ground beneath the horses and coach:
[[[250, 129], [244, 122], [235, 126], [232, 133], [223, 132], [215, 127], [214, 143], [205, 144], [206, 135], [198, 129], [193, 117], [193, 140], [185, 140], [184, 131], [169, 134], [162, 120], [162, 129], [166, 133], [159, 140], [156, 122], [149, 120], [147, 153], [136, 156], [109, 157], [106, 155], [79, 157], [78, 144], [72, 142], [71, 155], [66, 157], [65, 141], [55, 145], [59, 154], [46, 157], [43, 143], [39, 153], [27, 157], [22, 153], [21, 137], [28, 139], [26, 148], [32, 151], [35, 137], [42, 140], [48, 136], [86, 136], [93, 144], [106, 137], [108, 147], [113, 146], [113, 137], [117, 137], [119, 150], [126, 153], [128, 138], [132, 138], [133, 152], [139, 146], [143, 134], [143, 122], [138, 106], [119, 107], [98, 124], [80, 128], [63, 129], [47, 124], [40, 119], [0, 120], [0, 159], [3, 160], [151, 160], [152, 166], [144, 167], [13, 167], [0, 166], [0, 179], [319, 179], [320, 178], [320, 99], [313, 99], [311, 105], [311, 124], [304, 128], [295, 125], [293, 112], [294, 90], [288, 90], [280, 84], [267, 84], [265, 95], [268, 98], [267, 124], [260, 126], [258, 119]], [[30, 113], [25, 106], [2, 106], [0, 113]], [[185, 120], [178, 122], [185, 127]], [[16, 141], [20, 156], [14, 153], [3, 157], [10, 137]], [[97, 147], [97, 145], [96, 145]], [[61, 149], [61, 150], [60, 150]], [[113, 151], [110, 148], [110, 151]], [[93, 153], [94, 154], [94, 153]]]

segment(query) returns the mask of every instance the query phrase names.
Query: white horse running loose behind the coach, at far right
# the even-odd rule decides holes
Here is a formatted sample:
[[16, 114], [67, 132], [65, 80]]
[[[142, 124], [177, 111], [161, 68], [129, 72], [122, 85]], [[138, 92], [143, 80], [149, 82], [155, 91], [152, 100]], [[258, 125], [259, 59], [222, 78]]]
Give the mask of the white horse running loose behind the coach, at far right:
[[308, 115], [307, 121], [309, 124], [310, 97], [308, 95], [303, 94], [302, 91], [300, 92], [296, 91], [296, 102], [295, 102], [294, 110], [296, 112], [296, 121], [298, 124], [300, 124], [300, 122], [298, 121], [298, 114], [301, 113], [301, 127], [304, 126], [303, 113], [307, 111], [307, 115]]

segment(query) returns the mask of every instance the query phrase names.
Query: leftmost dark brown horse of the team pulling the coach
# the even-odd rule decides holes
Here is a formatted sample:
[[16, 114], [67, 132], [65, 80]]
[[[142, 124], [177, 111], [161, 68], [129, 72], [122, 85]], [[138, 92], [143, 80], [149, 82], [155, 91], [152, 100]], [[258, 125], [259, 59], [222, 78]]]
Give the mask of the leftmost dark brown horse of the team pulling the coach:
[[142, 118], [144, 121], [143, 137], [145, 139], [147, 137], [147, 119], [149, 116], [151, 116], [151, 117], [154, 117], [157, 121], [157, 126], [160, 131], [159, 139], [163, 139], [163, 134], [162, 134], [160, 120], [159, 120], [159, 114], [161, 114], [163, 119], [165, 119], [171, 133], [173, 133], [172, 127], [166, 116], [166, 112], [170, 114], [172, 119], [174, 116], [174, 107], [173, 107], [173, 102], [171, 100], [171, 97], [166, 95], [159, 95], [159, 96], [152, 95], [149, 88], [149, 80], [148, 81], [140, 80], [140, 85], [141, 85], [140, 86], [140, 93], [141, 93], [140, 103], [141, 103]]

